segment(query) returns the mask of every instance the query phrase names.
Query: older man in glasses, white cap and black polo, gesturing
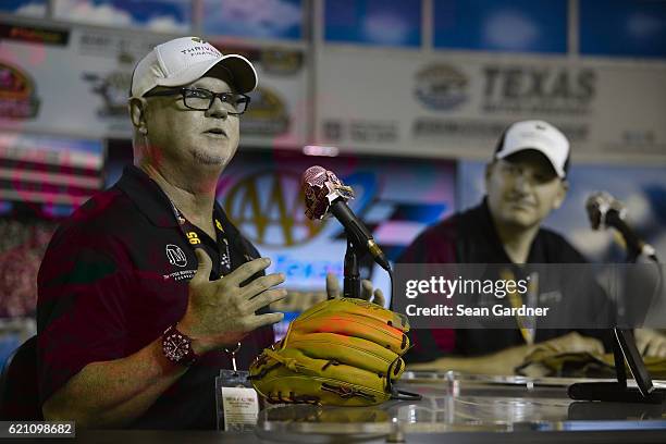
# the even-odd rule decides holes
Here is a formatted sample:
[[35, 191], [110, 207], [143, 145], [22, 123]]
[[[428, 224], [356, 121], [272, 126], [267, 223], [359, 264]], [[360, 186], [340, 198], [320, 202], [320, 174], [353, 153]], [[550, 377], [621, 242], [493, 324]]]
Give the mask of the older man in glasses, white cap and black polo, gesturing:
[[272, 344], [282, 274], [215, 201], [257, 86], [196, 38], [159, 45], [130, 92], [134, 165], [58, 230], [39, 273], [46, 419], [214, 429], [214, 378]]

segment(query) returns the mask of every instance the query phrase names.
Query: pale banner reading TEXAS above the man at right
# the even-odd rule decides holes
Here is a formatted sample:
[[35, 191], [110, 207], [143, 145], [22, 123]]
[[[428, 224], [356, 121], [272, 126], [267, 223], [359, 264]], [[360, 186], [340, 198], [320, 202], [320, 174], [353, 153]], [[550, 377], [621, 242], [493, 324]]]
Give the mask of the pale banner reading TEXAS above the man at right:
[[666, 158], [664, 64], [325, 47], [317, 90], [317, 139], [343, 148], [488, 158], [510, 122], [543, 119], [579, 158]]

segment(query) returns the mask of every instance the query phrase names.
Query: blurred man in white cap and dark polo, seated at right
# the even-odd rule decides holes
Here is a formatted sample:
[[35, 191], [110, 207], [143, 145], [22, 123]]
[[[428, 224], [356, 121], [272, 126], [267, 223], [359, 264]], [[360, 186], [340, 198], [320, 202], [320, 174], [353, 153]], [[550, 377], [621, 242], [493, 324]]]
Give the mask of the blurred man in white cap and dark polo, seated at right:
[[[421, 233], [398, 262], [404, 263], [584, 263], [559, 234], [541, 226], [564, 201], [568, 183], [569, 141], [543, 121], [510, 125], [485, 169], [483, 201]], [[609, 309], [600, 287], [585, 295], [590, 316]], [[605, 308], [604, 308], [605, 307]], [[639, 335], [643, 350], [666, 351], [659, 335]], [[519, 328], [412, 330], [411, 369], [440, 368], [474, 373], [513, 374], [535, 347], [553, 351], [601, 354], [609, 332], [529, 331]], [[666, 353], [665, 353], [666, 355]], [[418, 363], [423, 362], [423, 363]], [[427, 362], [427, 363], [425, 363]]]

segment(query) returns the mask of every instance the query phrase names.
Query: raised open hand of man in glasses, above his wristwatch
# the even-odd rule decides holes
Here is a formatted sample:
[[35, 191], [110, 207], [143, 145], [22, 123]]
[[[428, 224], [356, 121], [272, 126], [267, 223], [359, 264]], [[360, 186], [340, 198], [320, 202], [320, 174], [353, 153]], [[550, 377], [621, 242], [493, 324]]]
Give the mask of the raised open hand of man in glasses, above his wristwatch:
[[224, 278], [209, 281], [212, 263], [208, 255], [196, 249], [199, 264], [189, 281], [187, 311], [178, 330], [193, 338], [197, 354], [235, 345], [252, 330], [280, 322], [283, 313], [256, 314], [256, 311], [286, 296], [282, 273], [268, 274], [240, 286], [254, 274], [270, 266], [268, 258], [244, 263]]

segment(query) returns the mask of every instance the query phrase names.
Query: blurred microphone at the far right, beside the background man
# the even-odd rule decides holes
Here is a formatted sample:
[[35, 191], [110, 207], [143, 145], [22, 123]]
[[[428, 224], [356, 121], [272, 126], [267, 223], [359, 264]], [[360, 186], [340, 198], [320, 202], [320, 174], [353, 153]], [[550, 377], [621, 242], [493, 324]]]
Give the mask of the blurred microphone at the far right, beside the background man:
[[592, 193], [585, 202], [588, 217], [592, 230], [605, 230], [609, 226], [616, 229], [627, 243], [627, 249], [631, 252], [642, 254], [656, 260], [656, 250], [645, 240], [641, 239], [627, 224], [627, 208], [606, 192]]

